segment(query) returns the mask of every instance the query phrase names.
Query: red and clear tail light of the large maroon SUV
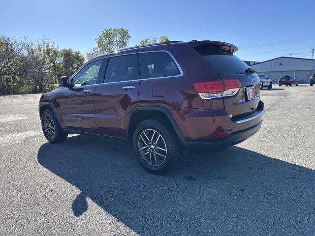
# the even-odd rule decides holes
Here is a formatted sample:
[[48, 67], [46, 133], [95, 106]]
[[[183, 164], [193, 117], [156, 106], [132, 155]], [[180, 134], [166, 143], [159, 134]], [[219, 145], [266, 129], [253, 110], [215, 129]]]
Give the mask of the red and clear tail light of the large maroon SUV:
[[193, 88], [202, 99], [220, 98], [235, 95], [241, 88], [236, 79], [193, 83]]

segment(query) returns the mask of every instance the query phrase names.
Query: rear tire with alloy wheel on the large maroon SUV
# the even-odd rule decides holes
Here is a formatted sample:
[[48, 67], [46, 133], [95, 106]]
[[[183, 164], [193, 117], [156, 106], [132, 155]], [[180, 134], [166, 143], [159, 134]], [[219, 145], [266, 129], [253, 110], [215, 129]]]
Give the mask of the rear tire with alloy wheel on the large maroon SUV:
[[175, 169], [184, 157], [184, 148], [173, 128], [155, 119], [146, 119], [136, 127], [132, 147], [140, 165], [155, 175]]

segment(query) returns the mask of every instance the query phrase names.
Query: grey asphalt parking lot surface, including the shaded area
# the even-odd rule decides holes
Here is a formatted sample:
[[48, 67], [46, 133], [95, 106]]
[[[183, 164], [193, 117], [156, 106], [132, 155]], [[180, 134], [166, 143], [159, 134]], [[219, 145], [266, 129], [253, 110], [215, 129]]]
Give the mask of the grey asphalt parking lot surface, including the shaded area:
[[0, 235], [315, 235], [315, 87], [263, 89], [257, 134], [165, 176], [122, 141], [49, 144], [39, 97], [0, 97]]

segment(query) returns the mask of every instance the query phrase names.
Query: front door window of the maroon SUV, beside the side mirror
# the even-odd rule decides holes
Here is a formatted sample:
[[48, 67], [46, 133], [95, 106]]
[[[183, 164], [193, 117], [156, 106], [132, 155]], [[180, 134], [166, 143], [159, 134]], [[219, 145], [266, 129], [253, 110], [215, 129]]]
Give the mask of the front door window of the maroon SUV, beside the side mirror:
[[72, 79], [74, 86], [94, 85], [96, 84], [100, 64], [102, 60], [95, 60], [87, 64]]

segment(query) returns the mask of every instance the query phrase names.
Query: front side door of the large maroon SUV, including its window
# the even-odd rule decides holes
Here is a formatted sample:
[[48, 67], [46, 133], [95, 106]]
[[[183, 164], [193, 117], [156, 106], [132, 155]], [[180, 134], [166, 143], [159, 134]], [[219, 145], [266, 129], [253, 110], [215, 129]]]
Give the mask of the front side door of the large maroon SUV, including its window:
[[102, 59], [85, 65], [70, 83], [73, 89], [64, 88], [58, 100], [61, 106], [63, 123], [67, 129], [95, 132], [94, 92], [100, 78]]

